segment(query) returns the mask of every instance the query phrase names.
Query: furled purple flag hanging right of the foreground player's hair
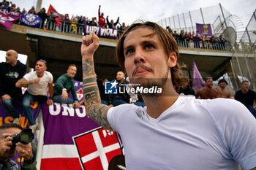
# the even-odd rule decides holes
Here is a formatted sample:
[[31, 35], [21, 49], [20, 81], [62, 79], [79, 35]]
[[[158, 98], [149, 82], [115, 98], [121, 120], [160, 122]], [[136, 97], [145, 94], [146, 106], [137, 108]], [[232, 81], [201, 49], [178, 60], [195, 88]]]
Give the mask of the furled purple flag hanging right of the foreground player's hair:
[[192, 87], [195, 89], [195, 92], [199, 90], [200, 88], [203, 88], [205, 86], [205, 82], [203, 81], [203, 78], [200, 74], [200, 72], [197, 69], [197, 65], [195, 65], [195, 59], [193, 58], [193, 75], [192, 75]]

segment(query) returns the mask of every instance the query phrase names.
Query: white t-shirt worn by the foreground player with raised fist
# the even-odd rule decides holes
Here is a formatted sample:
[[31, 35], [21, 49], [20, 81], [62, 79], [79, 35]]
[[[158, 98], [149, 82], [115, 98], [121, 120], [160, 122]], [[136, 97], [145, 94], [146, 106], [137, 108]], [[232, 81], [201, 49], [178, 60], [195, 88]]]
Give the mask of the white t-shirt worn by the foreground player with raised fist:
[[157, 119], [132, 104], [109, 109], [107, 117], [121, 135], [128, 170], [256, 166], [256, 119], [232, 99], [181, 94]]

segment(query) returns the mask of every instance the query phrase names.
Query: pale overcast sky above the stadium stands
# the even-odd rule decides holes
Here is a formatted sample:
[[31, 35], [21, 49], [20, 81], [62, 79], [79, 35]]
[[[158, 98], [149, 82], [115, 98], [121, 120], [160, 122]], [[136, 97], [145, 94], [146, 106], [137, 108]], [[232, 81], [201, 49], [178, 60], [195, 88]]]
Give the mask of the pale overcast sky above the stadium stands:
[[[36, 7], [37, 0], [12, 0], [16, 7], [27, 11]], [[120, 17], [119, 23], [132, 24], [135, 20], [150, 20], [158, 22], [163, 18], [189, 12], [204, 7], [217, 6], [219, 3], [233, 15], [237, 15], [244, 23], [244, 27], [252, 18], [256, 9], [255, 0], [42, 0], [42, 6], [48, 10], [50, 4], [61, 14], [83, 15], [88, 18], [98, 18], [98, 8], [101, 5], [101, 12], [109, 20], [116, 21]], [[211, 11], [210, 11], [211, 12]]]

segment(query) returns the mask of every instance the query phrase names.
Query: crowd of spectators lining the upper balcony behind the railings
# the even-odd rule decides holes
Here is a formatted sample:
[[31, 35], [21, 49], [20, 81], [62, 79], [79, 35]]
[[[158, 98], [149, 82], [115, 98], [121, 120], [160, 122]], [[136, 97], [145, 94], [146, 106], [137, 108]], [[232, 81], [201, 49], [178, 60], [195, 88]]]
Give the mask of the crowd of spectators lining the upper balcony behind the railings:
[[[15, 4], [12, 4], [12, 2], [6, 0], [1, 2], [0, 8], [20, 12], [20, 7], [16, 7]], [[119, 34], [121, 34], [127, 28], [124, 22], [119, 22], [119, 17], [116, 19], [116, 22], [114, 22], [113, 19], [109, 20], [108, 15], [105, 18], [104, 12], [101, 12], [100, 9], [101, 6], [99, 5], [98, 20], [96, 17], [90, 19], [83, 15], [72, 16], [69, 18], [69, 14], [66, 13], [61, 15], [54, 12], [53, 9], [50, 9], [49, 14], [46, 13], [45, 8], [42, 8], [39, 12], [37, 12], [34, 7], [31, 7], [28, 12], [23, 9], [23, 11], [20, 13], [31, 13], [38, 15], [42, 20], [40, 28], [53, 31], [64, 31], [72, 34], [83, 34], [84, 25], [117, 29]], [[18, 23], [18, 21], [16, 23]], [[178, 34], [177, 31], [172, 31], [172, 29], [169, 27], [167, 27], [167, 30], [176, 39], [179, 47], [208, 50], [230, 50], [226, 39], [222, 35], [219, 35], [219, 37], [215, 37], [214, 34], [211, 36], [205, 36], [203, 34], [199, 34], [198, 31], [196, 33], [193, 31], [191, 33], [184, 30], [181, 30], [181, 32]]]

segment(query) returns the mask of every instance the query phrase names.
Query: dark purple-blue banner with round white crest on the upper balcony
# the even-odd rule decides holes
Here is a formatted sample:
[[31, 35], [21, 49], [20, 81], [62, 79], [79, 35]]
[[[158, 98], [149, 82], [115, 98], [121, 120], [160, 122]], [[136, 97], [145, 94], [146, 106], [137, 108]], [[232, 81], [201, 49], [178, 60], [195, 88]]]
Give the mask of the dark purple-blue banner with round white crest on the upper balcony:
[[39, 28], [41, 25], [41, 18], [39, 18], [38, 15], [22, 14], [20, 18], [20, 24], [23, 26]]

